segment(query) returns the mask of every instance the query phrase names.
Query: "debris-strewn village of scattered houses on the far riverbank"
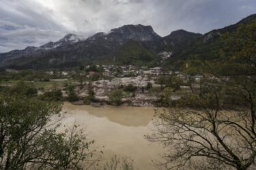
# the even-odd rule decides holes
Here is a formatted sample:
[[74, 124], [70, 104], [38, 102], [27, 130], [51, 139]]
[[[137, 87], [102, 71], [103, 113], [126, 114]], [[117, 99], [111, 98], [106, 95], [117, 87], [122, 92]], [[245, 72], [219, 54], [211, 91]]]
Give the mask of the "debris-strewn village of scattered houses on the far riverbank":
[[[53, 75], [53, 71], [46, 71]], [[89, 90], [94, 92], [94, 97], [89, 102], [92, 105], [111, 104], [109, 95], [113, 90], [121, 89], [120, 98], [122, 105], [132, 106], [160, 106], [167, 101], [177, 101], [190, 91], [188, 79], [191, 78], [181, 71], [172, 71], [162, 67], [137, 67], [133, 65], [87, 65], [79, 71], [59, 71], [61, 79], [50, 81], [67, 81], [78, 79], [74, 82], [74, 90], [78, 97], [74, 104], [83, 105], [89, 97]], [[78, 77], [76, 76], [78, 75]], [[199, 87], [202, 75], [193, 76], [194, 87]], [[132, 90], [126, 90], [127, 87]], [[64, 97], [68, 97], [65, 88], [61, 88]], [[168, 99], [167, 99], [168, 98]], [[88, 103], [88, 102], [86, 102]]]

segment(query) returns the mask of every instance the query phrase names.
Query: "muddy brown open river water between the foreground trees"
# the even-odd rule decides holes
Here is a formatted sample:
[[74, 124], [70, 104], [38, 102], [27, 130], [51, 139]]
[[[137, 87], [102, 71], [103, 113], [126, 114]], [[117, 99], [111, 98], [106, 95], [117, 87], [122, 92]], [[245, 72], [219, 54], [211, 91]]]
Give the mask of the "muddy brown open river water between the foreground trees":
[[[66, 112], [62, 124], [72, 126], [74, 122], [85, 129], [89, 139], [104, 152], [103, 160], [114, 155], [128, 156], [134, 160], [135, 169], [157, 169], [154, 162], [163, 153], [159, 143], [144, 138], [151, 134], [154, 126], [154, 107], [126, 107], [104, 105], [72, 105], [64, 103]], [[153, 162], [152, 162], [153, 161]]]

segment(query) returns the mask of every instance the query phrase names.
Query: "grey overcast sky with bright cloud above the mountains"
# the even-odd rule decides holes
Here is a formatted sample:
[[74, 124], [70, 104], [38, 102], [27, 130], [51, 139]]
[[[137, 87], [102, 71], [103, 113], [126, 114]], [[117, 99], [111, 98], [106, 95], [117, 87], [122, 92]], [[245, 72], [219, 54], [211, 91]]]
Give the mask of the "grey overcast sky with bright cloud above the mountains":
[[0, 52], [124, 24], [152, 25], [161, 36], [206, 33], [255, 13], [255, 0], [0, 0]]

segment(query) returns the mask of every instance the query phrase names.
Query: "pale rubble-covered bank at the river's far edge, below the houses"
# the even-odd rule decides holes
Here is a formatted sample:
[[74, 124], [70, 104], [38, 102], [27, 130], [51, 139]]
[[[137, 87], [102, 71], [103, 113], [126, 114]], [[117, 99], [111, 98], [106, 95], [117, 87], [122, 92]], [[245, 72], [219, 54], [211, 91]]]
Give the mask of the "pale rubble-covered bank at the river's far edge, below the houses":
[[[149, 80], [147, 77], [137, 76], [132, 78], [115, 78], [113, 80], [98, 80], [94, 82], [85, 82], [75, 84], [74, 91], [80, 101], [74, 104], [84, 103], [93, 105], [115, 105], [109, 98], [113, 90], [122, 91], [122, 97], [119, 97], [119, 104], [136, 107], [160, 107], [165, 103], [175, 102], [182, 96], [188, 94], [187, 86], [180, 86], [180, 90], [165, 88], [165, 85], [156, 83], [156, 80]], [[91, 93], [94, 96], [91, 96]], [[63, 95], [68, 97], [63, 91]], [[87, 99], [93, 99], [87, 101]]]

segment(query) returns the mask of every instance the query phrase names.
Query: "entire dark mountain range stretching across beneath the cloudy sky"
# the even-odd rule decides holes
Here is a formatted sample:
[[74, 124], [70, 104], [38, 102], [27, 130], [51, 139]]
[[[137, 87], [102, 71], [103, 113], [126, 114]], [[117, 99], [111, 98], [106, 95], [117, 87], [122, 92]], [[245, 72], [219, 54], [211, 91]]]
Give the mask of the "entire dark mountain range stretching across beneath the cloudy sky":
[[160, 37], [151, 26], [124, 25], [109, 33], [87, 39], [68, 34], [59, 41], [0, 54], [0, 67], [50, 68], [89, 64], [177, 65], [186, 60], [216, 60], [221, 49], [220, 35], [251, 23], [256, 14], [223, 29], [201, 35], [185, 30]]

